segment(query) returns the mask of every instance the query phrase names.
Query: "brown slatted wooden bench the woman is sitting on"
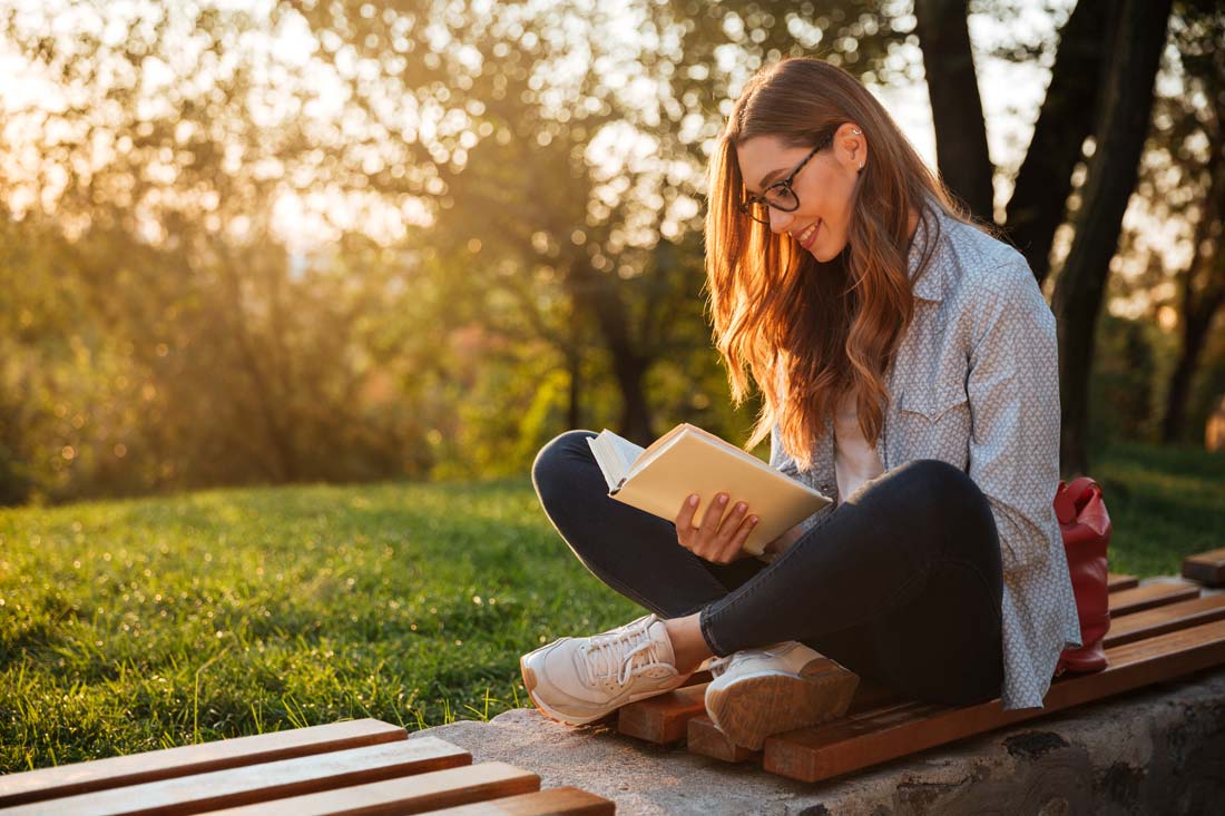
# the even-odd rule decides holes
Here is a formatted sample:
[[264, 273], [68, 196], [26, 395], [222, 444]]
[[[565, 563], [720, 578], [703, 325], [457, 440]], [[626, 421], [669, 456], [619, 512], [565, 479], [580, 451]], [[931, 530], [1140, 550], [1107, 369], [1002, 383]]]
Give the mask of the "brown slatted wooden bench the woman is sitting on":
[[[947, 707], [891, 697], [865, 686], [840, 719], [778, 734], [763, 751], [733, 745], [704, 713], [704, 685], [626, 706], [622, 733], [654, 742], [687, 739], [692, 752], [817, 782], [974, 734], [1041, 717], [1193, 671], [1225, 665], [1225, 595], [1199, 597], [1189, 582], [1137, 586], [1110, 576], [1111, 630], [1105, 671], [1052, 682], [1044, 708], [1005, 712], [995, 700]], [[652, 705], [653, 703], [653, 705]], [[681, 728], [684, 725], [684, 729]]]

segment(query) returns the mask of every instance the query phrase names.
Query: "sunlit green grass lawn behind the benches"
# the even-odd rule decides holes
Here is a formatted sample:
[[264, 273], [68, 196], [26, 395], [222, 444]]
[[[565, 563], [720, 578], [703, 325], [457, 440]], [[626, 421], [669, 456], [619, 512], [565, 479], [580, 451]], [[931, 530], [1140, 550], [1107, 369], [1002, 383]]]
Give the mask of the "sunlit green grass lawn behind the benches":
[[[1112, 569], [1225, 543], [1225, 457], [1100, 458]], [[347, 717], [526, 705], [521, 652], [641, 614], [527, 479], [218, 490], [0, 511], [0, 771]]]

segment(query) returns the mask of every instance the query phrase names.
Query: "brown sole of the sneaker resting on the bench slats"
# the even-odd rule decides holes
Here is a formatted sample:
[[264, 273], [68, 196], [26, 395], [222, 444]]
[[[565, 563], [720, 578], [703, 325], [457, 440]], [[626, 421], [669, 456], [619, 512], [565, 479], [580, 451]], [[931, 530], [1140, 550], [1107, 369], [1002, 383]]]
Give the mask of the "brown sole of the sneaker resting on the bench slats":
[[859, 675], [828, 658], [810, 660], [799, 675], [750, 674], [706, 690], [706, 709], [734, 744], [760, 751], [766, 738], [842, 717]]

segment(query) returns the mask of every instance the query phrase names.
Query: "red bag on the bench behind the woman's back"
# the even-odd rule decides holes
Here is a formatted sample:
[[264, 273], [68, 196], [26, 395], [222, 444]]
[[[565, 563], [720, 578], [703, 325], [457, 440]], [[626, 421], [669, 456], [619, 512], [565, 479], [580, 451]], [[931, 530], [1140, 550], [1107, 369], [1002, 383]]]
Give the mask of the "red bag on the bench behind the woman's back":
[[1101, 640], [1110, 630], [1110, 595], [1106, 586], [1106, 545], [1110, 515], [1101, 500], [1101, 485], [1088, 477], [1055, 493], [1055, 516], [1063, 533], [1072, 592], [1080, 618], [1080, 646], [1063, 649], [1055, 675], [1065, 671], [1100, 671], [1106, 668]]

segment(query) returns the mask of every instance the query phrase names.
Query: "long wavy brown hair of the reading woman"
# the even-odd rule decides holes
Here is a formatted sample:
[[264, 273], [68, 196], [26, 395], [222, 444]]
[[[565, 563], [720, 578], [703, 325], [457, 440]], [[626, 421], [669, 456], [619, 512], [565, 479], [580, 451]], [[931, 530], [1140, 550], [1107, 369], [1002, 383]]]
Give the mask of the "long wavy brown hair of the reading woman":
[[[746, 192], [736, 146], [774, 136], [786, 147], [811, 147], [848, 121], [862, 130], [871, 157], [851, 194], [846, 249], [821, 263], [740, 212]], [[875, 444], [888, 404], [886, 372], [913, 311], [910, 213], [929, 230], [926, 266], [938, 240], [931, 208], [964, 221], [960, 207], [876, 98], [816, 59], [783, 60], [750, 80], [710, 157], [708, 183], [706, 272], [715, 347], [735, 404], [747, 398], [750, 375], [764, 398], [746, 447], [778, 423], [785, 452], [810, 468], [813, 444], [848, 393]]]

